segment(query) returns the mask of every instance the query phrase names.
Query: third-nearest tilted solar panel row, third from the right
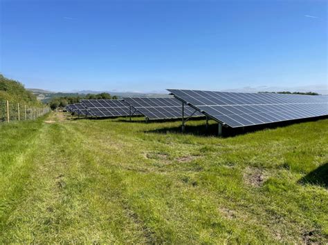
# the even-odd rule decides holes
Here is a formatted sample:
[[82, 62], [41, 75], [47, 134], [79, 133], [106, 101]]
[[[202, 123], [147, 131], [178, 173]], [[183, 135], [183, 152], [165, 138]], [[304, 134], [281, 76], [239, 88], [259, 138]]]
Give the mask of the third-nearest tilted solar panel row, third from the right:
[[[81, 104], [88, 108], [89, 113], [95, 117], [121, 117], [130, 115], [130, 106], [120, 99], [81, 99]], [[132, 115], [140, 115], [136, 110]]]

